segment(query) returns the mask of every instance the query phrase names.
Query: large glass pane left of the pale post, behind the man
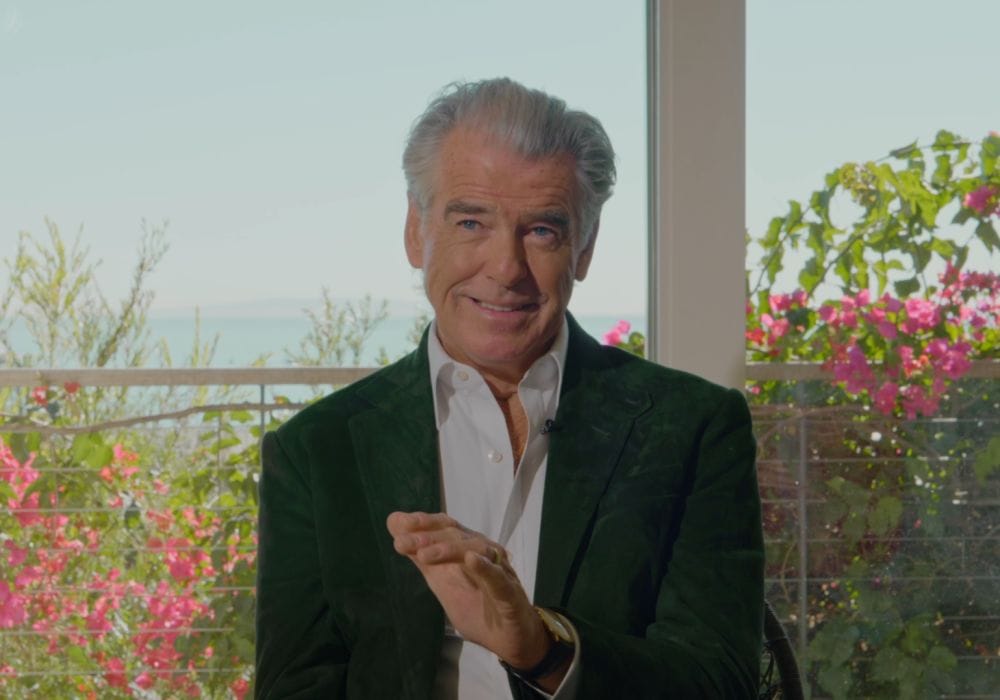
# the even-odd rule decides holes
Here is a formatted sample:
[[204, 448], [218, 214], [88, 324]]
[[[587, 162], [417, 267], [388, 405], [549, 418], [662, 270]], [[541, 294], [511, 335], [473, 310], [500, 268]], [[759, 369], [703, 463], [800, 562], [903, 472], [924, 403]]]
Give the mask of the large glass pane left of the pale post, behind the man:
[[602, 120], [571, 308], [644, 326], [644, 73], [642, 3], [0, 3], [0, 696], [247, 694], [259, 439], [359, 376], [290, 365], [413, 347], [400, 158], [446, 83]]

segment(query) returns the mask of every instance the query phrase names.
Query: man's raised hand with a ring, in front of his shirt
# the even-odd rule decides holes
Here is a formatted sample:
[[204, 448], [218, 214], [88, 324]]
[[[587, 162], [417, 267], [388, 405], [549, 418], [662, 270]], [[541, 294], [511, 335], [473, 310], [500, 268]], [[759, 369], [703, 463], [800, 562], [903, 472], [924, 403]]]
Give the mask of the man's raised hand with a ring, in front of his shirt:
[[444, 513], [395, 512], [386, 526], [464, 639], [514, 668], [542, 660], [551, 640], [503, 547]]

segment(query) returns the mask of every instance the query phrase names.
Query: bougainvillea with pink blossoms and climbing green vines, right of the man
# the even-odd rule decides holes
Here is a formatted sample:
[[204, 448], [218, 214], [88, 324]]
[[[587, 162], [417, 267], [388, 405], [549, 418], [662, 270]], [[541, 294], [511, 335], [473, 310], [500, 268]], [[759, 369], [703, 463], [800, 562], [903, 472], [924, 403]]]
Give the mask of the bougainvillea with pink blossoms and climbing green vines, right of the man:
[[1000, 372], [972, 368], [1000, 359], [998, 157], [940, 132], [846, 163], [751, 241], [748, 361], [826, 377], [747, 386], [768, 597], [816, 695], [996, 691]]

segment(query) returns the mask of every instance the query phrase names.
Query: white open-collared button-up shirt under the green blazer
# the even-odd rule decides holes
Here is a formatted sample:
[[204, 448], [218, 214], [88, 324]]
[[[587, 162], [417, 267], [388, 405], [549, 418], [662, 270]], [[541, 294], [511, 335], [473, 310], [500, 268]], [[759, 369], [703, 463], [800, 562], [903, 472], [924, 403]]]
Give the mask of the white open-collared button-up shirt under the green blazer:
[[[445, 352], [436, 324], [431, 324], [428, 333], [443, 510], [503, 545], [529, 598], [535, 589], [549, 448], [542, 428], [556, 415], [568, 338], [564, 321], [550, 350], [518, 384], [517, 394], [528, 417], [528, 437], [521, 461], [515, 465], [507, 423], [486, 381]], [[579, 650], [555, 695], [547, 697], [572, 696], [578, 657]], [[496, 655], [463, 640], [447, 620], [434, 697], [511, 697], [507, 673]]]

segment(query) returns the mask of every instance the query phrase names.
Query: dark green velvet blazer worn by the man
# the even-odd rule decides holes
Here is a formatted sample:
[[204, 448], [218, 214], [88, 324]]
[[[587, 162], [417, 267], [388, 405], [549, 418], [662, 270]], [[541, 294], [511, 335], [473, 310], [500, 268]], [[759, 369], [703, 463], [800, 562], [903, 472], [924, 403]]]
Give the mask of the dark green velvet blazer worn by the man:
[[[764, 556], [746, 402], [567, 318], [534, 601], [579, 632], [580, 696], [755, 697]], [[440, 510], [426, 337], [266, 435], [262, 462], [255, 697], [429, 698], [443, 612], [385, 526]]]

